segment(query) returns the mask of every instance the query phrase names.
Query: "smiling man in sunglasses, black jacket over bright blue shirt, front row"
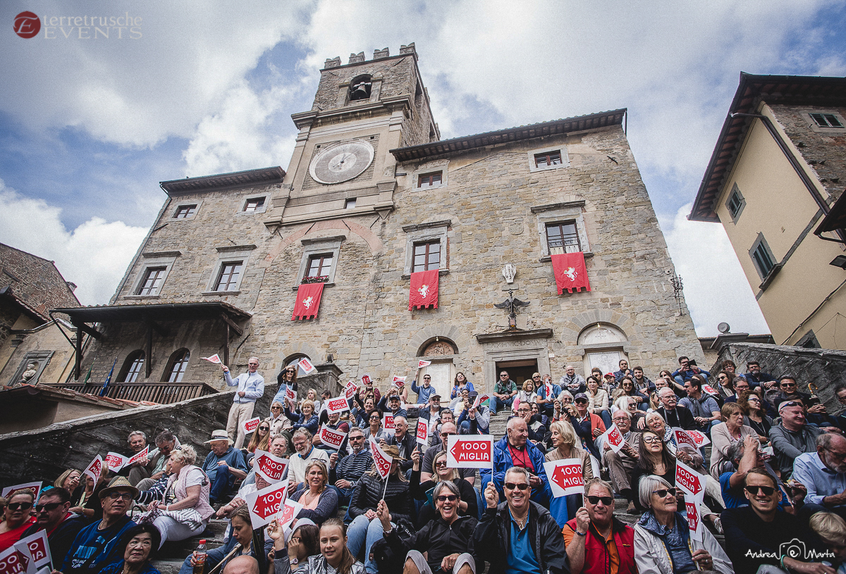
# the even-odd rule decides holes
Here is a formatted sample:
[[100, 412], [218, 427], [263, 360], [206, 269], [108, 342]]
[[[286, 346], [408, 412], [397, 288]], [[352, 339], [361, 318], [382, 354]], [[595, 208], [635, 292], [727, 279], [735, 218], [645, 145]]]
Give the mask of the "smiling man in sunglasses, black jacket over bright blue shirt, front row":
[[[525, 424], [520, 418], [513, 421]], [[530, 500], [529, 471], [510, 467], [503, 476], [505, 502], [493, 484], [485, 489], [487, 503], [473, 533], [475, 554], [491, 563], [490, 574], [563, 574], [567, 551], [558, 522]], [[548, 485], [547, 485], [548, 488]]]

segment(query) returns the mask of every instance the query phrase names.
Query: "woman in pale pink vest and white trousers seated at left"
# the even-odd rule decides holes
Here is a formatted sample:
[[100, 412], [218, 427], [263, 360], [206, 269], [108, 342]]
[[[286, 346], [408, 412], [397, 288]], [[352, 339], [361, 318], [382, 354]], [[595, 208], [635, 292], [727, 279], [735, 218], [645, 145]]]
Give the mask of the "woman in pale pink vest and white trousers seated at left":
[[162, 533], [160, 546], [168, 540], [184, 540], [201, 533], [214, 514], [209, 504], [211, 481], [200, 467], [195, 467], [196, 460], [192, 446], [173, 451], [163, 500], [153, 500], [148, 507], [153, 524]]

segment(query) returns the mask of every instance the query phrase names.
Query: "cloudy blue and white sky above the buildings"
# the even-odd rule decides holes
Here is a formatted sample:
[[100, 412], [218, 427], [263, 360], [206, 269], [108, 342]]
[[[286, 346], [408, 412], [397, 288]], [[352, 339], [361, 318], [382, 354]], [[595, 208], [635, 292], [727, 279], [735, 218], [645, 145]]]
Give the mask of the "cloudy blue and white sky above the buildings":
[[[23, 11], [41, 20], [29, 39], [14, 33]], [[92, 16], [123, 19], [105, 38]], [[413, 41], [444, 138], [628, 107], [696, 331], [766, 333], [722, 227], [686, 215], [740, 72], [846, 75], [844, 29], [846, 5], [822, 0], [6, 0], [0, 242], [107, 303], [158, 182], [287, 168], [290, 114], [310, 109], [323, 61]]]

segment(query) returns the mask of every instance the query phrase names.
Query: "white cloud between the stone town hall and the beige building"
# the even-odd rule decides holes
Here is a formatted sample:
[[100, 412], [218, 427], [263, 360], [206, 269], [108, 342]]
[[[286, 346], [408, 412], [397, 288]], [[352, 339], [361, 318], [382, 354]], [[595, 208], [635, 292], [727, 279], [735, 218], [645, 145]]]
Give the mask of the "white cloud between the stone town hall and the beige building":
[[683, 205], [673, 221], [660, 220], [684, 299], [699, 336], [716, 336], [725, 321], [734, 333], [770, 332], [755, 295], [722, 225], [688, 221], [693, 204]]

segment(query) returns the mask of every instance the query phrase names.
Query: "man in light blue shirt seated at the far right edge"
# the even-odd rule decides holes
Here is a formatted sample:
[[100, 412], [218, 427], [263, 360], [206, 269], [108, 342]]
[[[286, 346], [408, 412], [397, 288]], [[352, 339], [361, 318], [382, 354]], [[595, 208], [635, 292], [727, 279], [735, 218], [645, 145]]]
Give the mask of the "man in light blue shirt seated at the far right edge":
[[846, 517], [846, 439], [841, 435], [816, 437], [816, 452], [805, 452], [794, 461], [793, 478], [805, 484], [808, 495], [800, 511], [805, 522], [816, 512]]

